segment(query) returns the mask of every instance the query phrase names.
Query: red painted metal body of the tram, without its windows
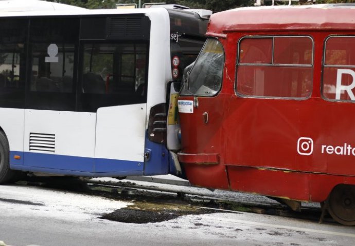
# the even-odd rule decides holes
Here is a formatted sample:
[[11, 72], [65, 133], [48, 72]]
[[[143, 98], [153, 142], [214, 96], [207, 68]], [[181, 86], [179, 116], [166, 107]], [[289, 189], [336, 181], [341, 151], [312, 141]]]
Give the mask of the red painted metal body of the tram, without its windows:
[[[193, 113], [180, 113], [179, 156], [191, 183], [303, 201], [324, 201], [339, 183], [355, 185], [355, 156], [351, 154], [355, 104], [326, 100], [320, 89], [325, 40], [330, 35], [355, 35], [354, 15], [352, 8], [269, 7], [211, 16], [207, 34], [218, 37], [223, 45], [225, 67], [221, 91], [214, 97], [197, 97]], [[250, 35], [313, 39], [310, 98], [236, 94], [238, 41]], [[193, 100], [192, 96], [179, 99]], [[312, 153], [299, 154], [297, 148], [308, 138], [313, 140]], [[338, 147], [338, 154], [326, 153], [328, 146]], [[341, 149], [350, 154], [341, 154]], [[219, 156], [219, 163], [203, 165], [211, 156]]]

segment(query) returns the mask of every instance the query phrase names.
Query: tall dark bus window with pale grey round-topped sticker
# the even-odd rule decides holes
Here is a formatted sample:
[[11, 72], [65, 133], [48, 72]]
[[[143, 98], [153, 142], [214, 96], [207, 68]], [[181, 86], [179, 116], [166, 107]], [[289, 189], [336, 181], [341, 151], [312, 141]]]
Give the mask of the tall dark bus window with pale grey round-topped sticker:
[[78, 33], [79, 19], [30, 20], [28, 108], [75, 110]]

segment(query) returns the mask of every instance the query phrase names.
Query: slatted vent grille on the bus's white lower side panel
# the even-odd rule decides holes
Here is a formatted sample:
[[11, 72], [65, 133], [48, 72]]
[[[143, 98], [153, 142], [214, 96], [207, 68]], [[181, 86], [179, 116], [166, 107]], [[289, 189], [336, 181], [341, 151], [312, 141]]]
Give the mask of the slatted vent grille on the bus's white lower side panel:
[[56, 135], [30, 132], [30, 151], [55, 152]]

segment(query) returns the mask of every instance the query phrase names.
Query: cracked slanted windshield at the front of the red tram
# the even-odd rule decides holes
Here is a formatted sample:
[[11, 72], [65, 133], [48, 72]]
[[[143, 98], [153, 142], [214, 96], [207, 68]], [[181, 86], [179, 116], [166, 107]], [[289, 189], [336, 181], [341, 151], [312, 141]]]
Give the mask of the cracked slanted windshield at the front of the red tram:
[[221, 43], [215, 38], [207, 39], [191, 71], [186, 73], [181, 94], [216, 95], [222, 86], [223, 66], [224, 51]]

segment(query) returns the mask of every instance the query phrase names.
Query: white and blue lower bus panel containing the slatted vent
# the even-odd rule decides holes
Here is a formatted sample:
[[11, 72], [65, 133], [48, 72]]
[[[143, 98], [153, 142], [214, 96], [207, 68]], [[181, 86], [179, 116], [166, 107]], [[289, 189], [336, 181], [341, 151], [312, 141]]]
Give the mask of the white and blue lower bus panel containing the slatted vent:
[[94, 171], [96, 114], [25, 110], [25, 166]]

